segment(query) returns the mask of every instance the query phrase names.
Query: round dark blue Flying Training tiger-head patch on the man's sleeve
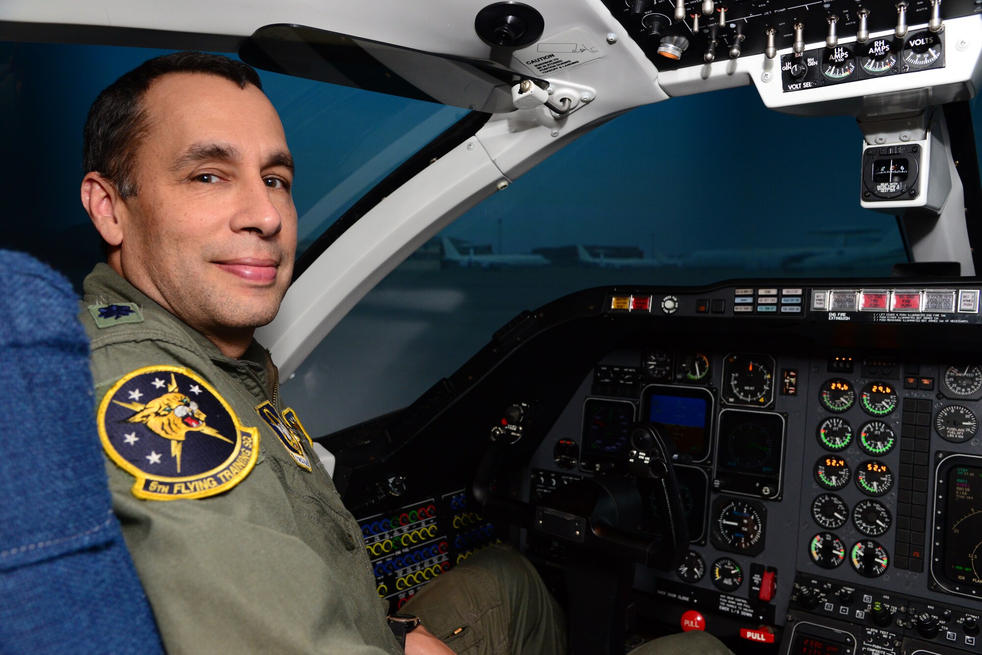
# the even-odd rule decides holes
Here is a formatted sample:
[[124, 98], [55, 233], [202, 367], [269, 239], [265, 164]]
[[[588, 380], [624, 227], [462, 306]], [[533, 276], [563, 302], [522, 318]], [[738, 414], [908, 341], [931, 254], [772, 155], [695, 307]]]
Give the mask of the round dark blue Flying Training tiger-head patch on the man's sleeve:
[[149, 500], [204, 498], [246, 478], [259, 430], [189, 369], [150, 366], [116, 382], [99, 404], [102, 447]]

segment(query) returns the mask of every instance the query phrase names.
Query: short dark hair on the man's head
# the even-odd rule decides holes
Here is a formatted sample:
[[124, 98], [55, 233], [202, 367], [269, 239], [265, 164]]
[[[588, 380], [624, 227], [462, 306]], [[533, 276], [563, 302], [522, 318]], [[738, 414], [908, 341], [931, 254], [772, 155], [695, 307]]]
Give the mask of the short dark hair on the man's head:
[[204, 52], [174, 52], [143, 62], [107, 86], [92, 103], [82, 132], [82, 168], [105, 177], [123, 198], [136, 195], [134, 157], [149, 127], [143, 97], [158, 77], [201, 73], [262, 90], [247, 64]]

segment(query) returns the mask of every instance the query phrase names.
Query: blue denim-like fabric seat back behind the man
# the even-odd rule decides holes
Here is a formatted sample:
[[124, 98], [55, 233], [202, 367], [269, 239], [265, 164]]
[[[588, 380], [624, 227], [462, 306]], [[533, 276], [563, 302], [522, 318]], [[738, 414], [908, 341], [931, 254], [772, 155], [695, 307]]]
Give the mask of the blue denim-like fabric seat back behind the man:
[[0, 653], [159, 653], [111, 511], [68, 281], [0, 250]]

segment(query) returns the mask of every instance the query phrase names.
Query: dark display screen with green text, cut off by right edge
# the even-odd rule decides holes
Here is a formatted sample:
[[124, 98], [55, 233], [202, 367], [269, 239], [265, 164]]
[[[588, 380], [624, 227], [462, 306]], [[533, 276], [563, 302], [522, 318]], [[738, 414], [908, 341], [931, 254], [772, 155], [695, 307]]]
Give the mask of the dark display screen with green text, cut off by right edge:
[[948, 472], [945, 576], [959, 586], [982, 587], [982, 468], [954, 466]]

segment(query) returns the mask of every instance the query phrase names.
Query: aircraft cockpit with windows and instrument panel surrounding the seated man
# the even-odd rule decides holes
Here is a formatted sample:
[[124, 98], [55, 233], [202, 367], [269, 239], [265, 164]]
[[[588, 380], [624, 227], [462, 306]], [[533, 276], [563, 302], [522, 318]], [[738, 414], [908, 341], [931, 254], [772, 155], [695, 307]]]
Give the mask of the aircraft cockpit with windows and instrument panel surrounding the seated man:
[[257, 338], [393, 610], [501, 541], [577, 655], [982, 653], [980, 14], [8, 1], [8, 237], [78, 284], [94, 95], [240, 58], [298, 162]]

